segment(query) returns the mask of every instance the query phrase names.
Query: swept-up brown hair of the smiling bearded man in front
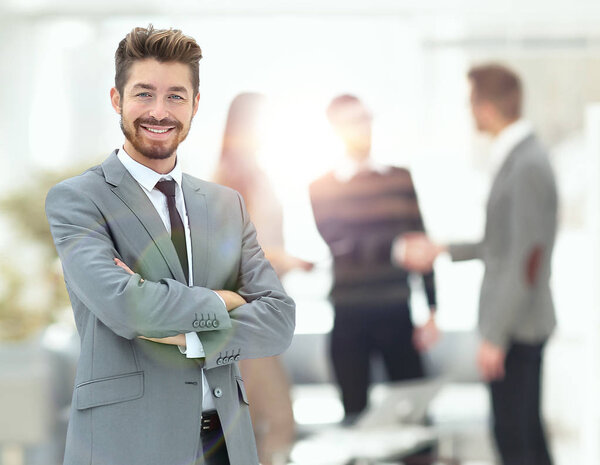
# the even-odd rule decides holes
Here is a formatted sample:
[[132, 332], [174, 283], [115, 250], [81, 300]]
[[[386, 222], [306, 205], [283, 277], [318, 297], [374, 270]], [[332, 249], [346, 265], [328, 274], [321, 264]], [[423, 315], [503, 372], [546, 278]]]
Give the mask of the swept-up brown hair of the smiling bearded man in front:
[[123, 95], [131, 65], [138, 60], [154, 58], [160, 62], [178, 62], [189, 65], [194, 97], [199, 92], [199, 63], [202, 50], [196, 41], [179, 29], [136, 27], [125, 36], [115, 52], [115, 87]]

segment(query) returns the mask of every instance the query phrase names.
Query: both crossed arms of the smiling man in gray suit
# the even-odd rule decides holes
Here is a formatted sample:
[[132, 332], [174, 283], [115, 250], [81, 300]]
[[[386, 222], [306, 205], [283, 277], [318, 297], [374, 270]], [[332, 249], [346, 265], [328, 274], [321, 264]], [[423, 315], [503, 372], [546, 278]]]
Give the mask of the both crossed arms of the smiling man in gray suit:
[[[125, 339], [177, 338], [180, 334], [185, 337], [188, 332], [196, 332], [206, 354], [206, 368], [222, 364], [219, 362], [225, 354], [234, 353], [240, 359], [269, 357], [289, 346], [294, 332], [295, 305], [264, 258], [241, 196], [220, 190], [219, 195], [212, 198], [217, 211], [231, 211], [231, 215], [224, 217], [225, 231], [233, 238], [241, 233], [240, 255], [231, 257], [231, 266], [237, 266], [233, 259], [239, 260], [239, 269], [235, 270], [236, 288], [234, 292], [215, 292], [208, 287], [188, 287], [175, 279], [162, 278], [160, 272], [154, 271], [150, 271], [152, 279], [142, 281], [139, 274], [130, 274], [116, 266], [115, 257], [132, 265], [127, 261], [139, 256], [139, 250], [129, 247], [128, 236], [118, 234], [120, 228], [129, 227], [130, 214], [125, 210], [121, 214], [118, 208], [125, 207], [120, 205], [118, 208], [105, 205], [114, 200], [108, 194], [107, 199], [96, 194], [103, 202], [88, 195], [93, 176], [94, 173], [87, 174], [85, 179], [72, 178], [58, 184], [50, 190], [46, 200], [50, 229], [74, 300], [74, 310], [92, 313]], [[85, 186], [83, 181], [86, 181]], [[236, 216], [235, 207], [239, 208], [241, 218]], [[120, 240], [119, 244], [115, 244], [115, 238]], [[121, 246], [121, 252], [117, 252], [117, 246]], [[150, 252], [156, 250], [152, 248]], [[159, 255], [155, 255], [146, 257], [146, 266], [151, 266], [151, 260], [159, 260]], [[160, 261], [156, 263], [160, 265]], [[194, 323], [202, 314], [218, 321], [218, 330], [197, 328]], [[179, 340], [170, 340], [170, 343], [179, 344]]]

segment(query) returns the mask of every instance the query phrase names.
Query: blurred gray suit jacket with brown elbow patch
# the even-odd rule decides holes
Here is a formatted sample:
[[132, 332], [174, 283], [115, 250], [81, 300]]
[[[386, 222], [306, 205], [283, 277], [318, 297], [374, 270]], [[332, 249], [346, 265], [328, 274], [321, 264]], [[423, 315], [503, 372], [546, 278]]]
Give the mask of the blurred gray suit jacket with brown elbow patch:
[[485, 264], [479, 303], [484, 339], [506, 348], [511, 341], [542, 342], [554, 329], [549, 281], [556, 215], [554, 174], [546, 151], [530, 135], [492, 184], [483, 240], [449, 247], [453, 260], [479, 258]]

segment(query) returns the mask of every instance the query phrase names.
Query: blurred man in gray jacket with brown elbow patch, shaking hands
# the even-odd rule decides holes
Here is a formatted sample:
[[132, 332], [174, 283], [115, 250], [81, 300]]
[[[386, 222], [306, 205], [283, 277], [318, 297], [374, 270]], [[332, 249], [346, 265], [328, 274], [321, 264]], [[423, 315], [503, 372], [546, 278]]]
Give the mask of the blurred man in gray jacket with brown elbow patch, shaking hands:
[[543, 347], [555, 326], [550, 265], [557, 192], [546, 150], [521, 119], [518, 76], [498, 65], [469, 72], [471, 109], [480, 131], [494, 137], [496, 176], [481, 242], [442, 246], [422, 234], [404, 238], [396, 259], [430, 269], [435, 257], [481, 259], [478, 365], [490, 383], [494, 435], [505, 465], [549, 465], [540, 418]]

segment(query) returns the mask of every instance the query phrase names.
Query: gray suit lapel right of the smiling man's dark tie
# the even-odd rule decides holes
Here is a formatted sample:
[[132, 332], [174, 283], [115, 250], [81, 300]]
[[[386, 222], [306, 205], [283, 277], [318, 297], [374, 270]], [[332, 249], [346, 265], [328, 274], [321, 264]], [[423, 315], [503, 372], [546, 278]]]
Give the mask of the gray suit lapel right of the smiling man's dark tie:
[[183, 175], [183, 198], [192, 238], [192, 268], [194, 285], [206, 286], [208, 281], [209, 228], [206, 196], [189, 176]]

